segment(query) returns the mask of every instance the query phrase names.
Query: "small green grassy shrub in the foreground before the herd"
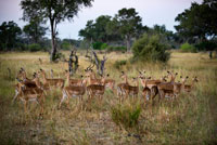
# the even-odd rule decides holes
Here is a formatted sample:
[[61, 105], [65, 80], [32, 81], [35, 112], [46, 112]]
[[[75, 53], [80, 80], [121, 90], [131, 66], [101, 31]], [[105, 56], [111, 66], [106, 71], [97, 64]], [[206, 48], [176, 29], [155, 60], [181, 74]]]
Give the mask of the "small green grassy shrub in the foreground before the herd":
[[111, 108], [112, 120], [126, 130], [135, 128], [141, 113], [140, 105], [117, 105]]

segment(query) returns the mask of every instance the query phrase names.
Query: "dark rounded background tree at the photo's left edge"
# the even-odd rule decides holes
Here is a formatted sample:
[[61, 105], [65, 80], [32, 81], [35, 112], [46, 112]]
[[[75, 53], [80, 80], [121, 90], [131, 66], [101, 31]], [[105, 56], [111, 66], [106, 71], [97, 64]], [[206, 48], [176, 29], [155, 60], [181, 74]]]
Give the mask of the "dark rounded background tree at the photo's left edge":
[[11, 50], [18, 41], [18, 36], [22, 34], [21, 28], [16, 23], [3, 22], [0, 26], [0, 47], [4, 50]]

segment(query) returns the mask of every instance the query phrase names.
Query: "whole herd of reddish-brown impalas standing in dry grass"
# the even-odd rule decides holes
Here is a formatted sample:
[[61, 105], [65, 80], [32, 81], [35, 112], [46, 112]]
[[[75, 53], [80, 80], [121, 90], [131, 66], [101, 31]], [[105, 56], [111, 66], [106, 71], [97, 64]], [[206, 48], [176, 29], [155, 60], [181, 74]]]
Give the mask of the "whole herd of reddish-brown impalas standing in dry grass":
[[[27, 103], [29, 101], [35, 101], [40, 105], [40, 114], [43, 113], [43, 102], [44, 93], [51, 89], [60, 88], [62, 90], [62, 98], [59, 104], [59, 108], [62, 103], [66, 100], [67, 105], [69, 97], [79, 97], [79, 101], [82, 101], [82, 96], [87, 91], [88, 100], [92, 97], [99, 97], [102, 100], [104, 91], [106, 88], [110, 88], [113, 93], [115, 93], [115, 80], [107, 79], [108, 75], [101, 76], [100, 79], [95, 77], [94, 71], [92, 70], [93, 66], [89, 66], [85, 69], [85, 77], [81, 76], [81, 79], [71, 79], [71, 74], [68, 70], [65, 70], [65, 79], [60, 78], [47, 78], [46, 71], [40, 69], [37, 72], [34, 72], [34, 78], [28, 79], [26, 77], [26, 71], [24, 68], [17, 74], [18, 83], [15, 85], [15, 95], [13, 102], [16, 98], [20, 98], [24, 102], [24, 109], [26, 110]], [[117, 96], [122, 102], [124, 98], [127, 98], [129, 95], [137, 97], [139, 94], [139, 81], [142, 85], [142, 96], [144, 102], [148, 100], [153, 100], [157, 94], [158, 98], [164, 98], [165, 96], [176, 97], [182, 91], [190, 92], [194, 83], [197, 82], [197, 78], [194, 77], [191, 84], [186, 84], [188, 77], [182, 78], [181, 82], [176, 82], [175, 79], [178, 74], [173, 71], [167, 71], [167, 75], [161, 79], [152, 79], [151, 77], [144, 76], [145, 71], [139, 71], [139, 75], [136, 78], [132, 78], [135, 84], [130, 84], [128, 81], [128, 76], [124, 71], [120, 74], [120, 78], [124, 82], [117, 84]], [[51, 76], [53, 76], [53, 70], [51, 69]], [[40, 79], [41, 78], [41, 81]], [[168, 79], [168, 80], [167, 80]]]

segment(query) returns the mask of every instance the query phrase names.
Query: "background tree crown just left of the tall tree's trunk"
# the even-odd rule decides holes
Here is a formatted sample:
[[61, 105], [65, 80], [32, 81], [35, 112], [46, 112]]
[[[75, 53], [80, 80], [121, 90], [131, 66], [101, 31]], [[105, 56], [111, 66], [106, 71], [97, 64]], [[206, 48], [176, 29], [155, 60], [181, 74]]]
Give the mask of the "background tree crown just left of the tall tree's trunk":
[[24, 26], [23, 31], [31, 43], [38, 43], [46, 35], [47, 29], [47, 27], [41, 26], [41, 22], [39, 19], [31, 19], [29, 24]]

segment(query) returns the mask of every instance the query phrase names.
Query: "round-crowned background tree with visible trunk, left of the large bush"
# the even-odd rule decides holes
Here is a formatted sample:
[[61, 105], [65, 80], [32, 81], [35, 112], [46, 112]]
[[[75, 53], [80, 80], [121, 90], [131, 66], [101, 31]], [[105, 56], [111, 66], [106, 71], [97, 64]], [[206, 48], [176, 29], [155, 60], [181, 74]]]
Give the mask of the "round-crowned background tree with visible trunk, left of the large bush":
[[118, 14], [115, 15], [113, 30], [118, 30], [122, 37], [126, 41], [127, 50], [130, 51], [130, 41], [133, 37], [140, 34], [143, 29], [142, 18], [138, 15], [135, 9], [122, 9]]

